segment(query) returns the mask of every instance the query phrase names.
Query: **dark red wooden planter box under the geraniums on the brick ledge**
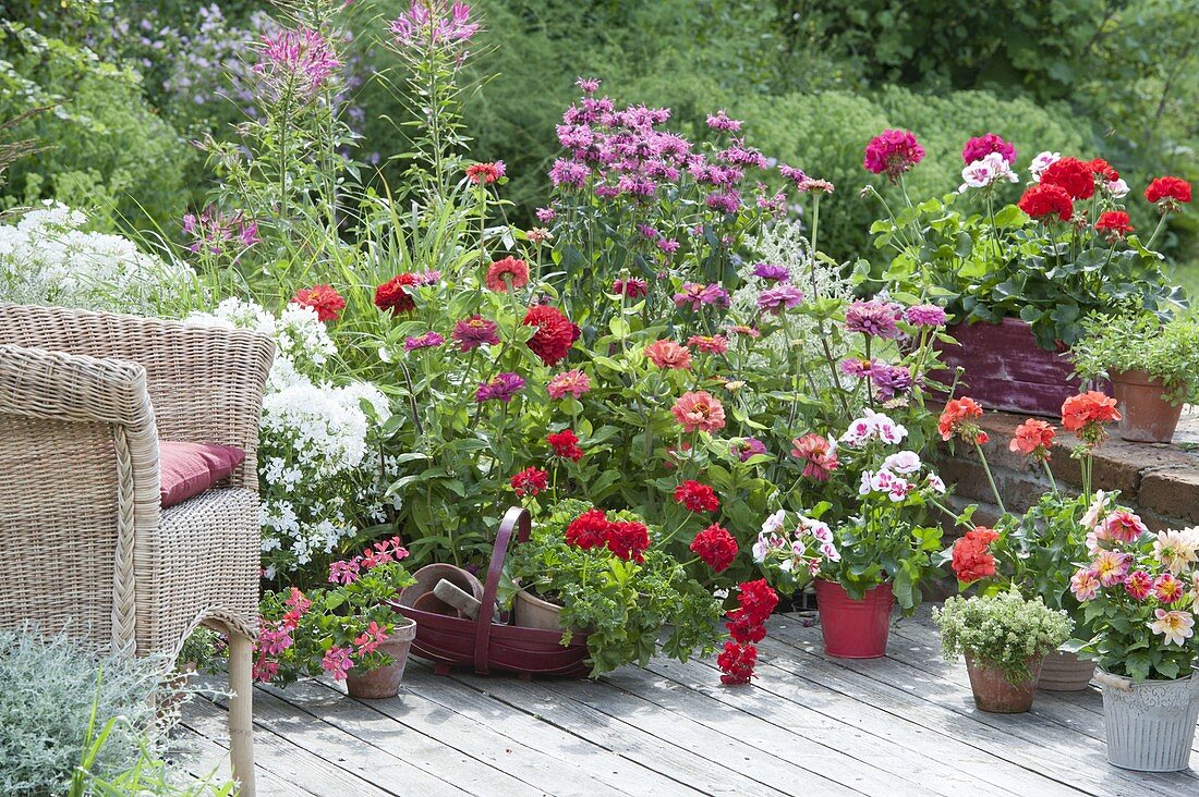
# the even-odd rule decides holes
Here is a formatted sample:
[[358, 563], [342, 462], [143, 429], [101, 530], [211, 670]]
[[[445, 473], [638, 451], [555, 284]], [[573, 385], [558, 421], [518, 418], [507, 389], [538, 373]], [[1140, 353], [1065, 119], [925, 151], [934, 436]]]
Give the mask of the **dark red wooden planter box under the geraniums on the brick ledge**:
[[948, 328], [960, 345], [936, 344], [945, 370], [933, 378], [946, 385], [964, 369], [953, 398], [969, 396], [988, 410], [1058, 416], [1061, 403], [1079, 391], [1065, 348], [1046, 351], [1019, 319], [1000, 324], [954, 324]]

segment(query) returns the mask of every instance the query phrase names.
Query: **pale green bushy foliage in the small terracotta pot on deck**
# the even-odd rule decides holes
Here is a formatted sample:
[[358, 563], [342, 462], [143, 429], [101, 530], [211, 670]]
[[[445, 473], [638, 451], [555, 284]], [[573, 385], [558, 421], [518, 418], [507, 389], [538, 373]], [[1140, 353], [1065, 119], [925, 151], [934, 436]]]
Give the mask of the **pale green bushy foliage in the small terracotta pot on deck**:
[[1073, 623], [1065, 611], [1048, 609], [1040, 597], [1024, 599], [1017, 590], [975, 598], [952, 597], [933, 620], [941, 629], [941, 651], [953, 659], [970, 653], [994, 666], [1011, 683], [1032, 677], [1035, 660], [1070, 639]]

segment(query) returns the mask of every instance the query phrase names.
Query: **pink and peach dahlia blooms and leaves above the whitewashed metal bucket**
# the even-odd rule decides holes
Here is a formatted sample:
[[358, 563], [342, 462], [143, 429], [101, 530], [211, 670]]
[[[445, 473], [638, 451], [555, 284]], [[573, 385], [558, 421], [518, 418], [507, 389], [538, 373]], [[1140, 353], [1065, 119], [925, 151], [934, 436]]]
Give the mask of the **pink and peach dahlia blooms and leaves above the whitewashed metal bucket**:
[[1186, 677], [1199, 654], [1199, 527], [1155, 535], [1132, 513], [1104, 505], [1085, 520], [1092, 558], [1070, 588], [1091, 636], [1070, 648], [1134, 681]]

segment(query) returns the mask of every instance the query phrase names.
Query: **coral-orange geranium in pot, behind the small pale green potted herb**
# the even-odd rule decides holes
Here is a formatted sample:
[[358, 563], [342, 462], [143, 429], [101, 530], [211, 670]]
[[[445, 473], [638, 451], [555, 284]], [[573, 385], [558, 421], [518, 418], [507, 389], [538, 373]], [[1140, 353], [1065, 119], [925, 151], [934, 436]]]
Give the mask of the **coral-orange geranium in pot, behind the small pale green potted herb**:
[[[944, 551], [940, 560], [951, 566], [960, 590], [978, 585], [984, 594], [998, 594], [1018, 588], [1026, 598], [1041, 598], [1050, 609], [1065, 611], [1076, 635], [1087, 633], [1081, 606], [1071, 591], [1073, 563], [1089, 558], [1087, 541], [1096, 533], [1105, 533], [1110, 527], [1145, 529], [1140, 518], [1116, 503], [1119, 494], [1091, 491], [1093, 451], [1105, 437], [1104, 424], [1114, 422], [1117, 415], [1115, 401], [1098, 392], [1072, 397], [1064, 406], [1064, 424], [1080, 437], [1080, 445], [1072, 452], [1083, 473], [1083, 491], [1078, 496], [1059, 490], [1049, 464], [1056, 428], [1036, 418], [1016, 428], [1008, 448], [1024, 454], [1044, 472], [1049, 490], [1028, 512], [1005, 512], [994, 529], [974, 527]], [[986, 465], [981, 447], [977, 453]], [[995, 501], [1004, 506], [998, 490]], [[1093, 663], [1068, 650], [1050, 651], [1038, 687], [1078, 692], [1087, 687], [1093, 675]]]

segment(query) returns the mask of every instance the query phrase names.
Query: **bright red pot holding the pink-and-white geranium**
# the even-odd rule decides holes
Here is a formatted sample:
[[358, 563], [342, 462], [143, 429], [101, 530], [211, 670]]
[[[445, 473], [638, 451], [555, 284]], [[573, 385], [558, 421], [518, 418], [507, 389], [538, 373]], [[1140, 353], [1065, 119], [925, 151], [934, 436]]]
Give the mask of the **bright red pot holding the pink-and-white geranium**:
[[825, 653], [840, 659], [878, 659], [887, 653], [894, 593], [884, 582], [854, 600], [836, 581], [817, 579], [817, 609]]

